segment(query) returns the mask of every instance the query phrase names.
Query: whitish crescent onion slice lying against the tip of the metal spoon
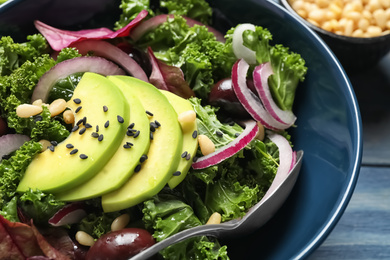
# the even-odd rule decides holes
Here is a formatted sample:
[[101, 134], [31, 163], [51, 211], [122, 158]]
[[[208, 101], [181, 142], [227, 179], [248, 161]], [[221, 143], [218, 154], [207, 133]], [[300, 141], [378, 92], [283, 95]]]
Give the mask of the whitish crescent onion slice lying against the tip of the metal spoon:
[[268, 198], [273, 191], [287, 178], [295, 165], [296, 153], [293, 152], [289, 141], [282, 135], [266, 131], [267, 137], [276, 144], [279, 149], [279, 167], [271, 186], [265, 193], [262, 200]]

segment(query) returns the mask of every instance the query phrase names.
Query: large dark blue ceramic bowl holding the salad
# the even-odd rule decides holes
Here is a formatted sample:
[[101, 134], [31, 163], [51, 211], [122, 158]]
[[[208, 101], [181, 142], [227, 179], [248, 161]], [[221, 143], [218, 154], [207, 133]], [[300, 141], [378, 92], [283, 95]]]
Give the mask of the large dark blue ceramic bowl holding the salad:
[[[265, 0], [211, 2], [219, 29], [244, 22], [267, 27], [275, 43], [300, 53], [309, 68], [297, 90], [298, 127], [291, 132], [294, 148], [305, 151], [297, 184], [265, 226], [223, 242], [231, 259], [306, 258], [337, 224], [358, 179], [362, 125], [354, 91], [323, 41], [279, 5]], [[110, 27], [118, 14], [118, 1], [11, 0], [0, 8], [0, 34], [8, 30], [23, 37], [32, 32], [34, 19], [61, 28]]]

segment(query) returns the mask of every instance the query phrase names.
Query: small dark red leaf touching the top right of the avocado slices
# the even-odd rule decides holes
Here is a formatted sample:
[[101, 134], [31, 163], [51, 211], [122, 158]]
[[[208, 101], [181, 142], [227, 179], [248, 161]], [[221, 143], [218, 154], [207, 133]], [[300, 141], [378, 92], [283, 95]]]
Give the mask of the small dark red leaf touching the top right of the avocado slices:
[[152, 74], [149, 77], [151, 84], [158, 89], [170, 91], [182, 98], [195, 96], [194, 91], [185, 81], [183, 71], [180, 68], [159, 61], [150, 47], [148, 48], [148, 54], [152, 64]]

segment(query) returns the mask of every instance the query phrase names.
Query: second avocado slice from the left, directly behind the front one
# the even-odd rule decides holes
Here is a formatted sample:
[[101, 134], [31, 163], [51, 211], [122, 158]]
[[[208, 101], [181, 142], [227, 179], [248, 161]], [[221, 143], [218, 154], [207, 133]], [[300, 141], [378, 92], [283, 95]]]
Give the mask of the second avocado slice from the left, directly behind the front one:
[[[117, 85], [129, 103], [129, 117], [124, 124], [129, 130], [124, 132], [121, 145], [111, 160], [90, 180], [66, 192], [55, 194], [63, 201], [76, 201], [96, 198], [121, 187], [141, 164], [141, 156], [145, 155], [150, 145], [149, 118], [139, 99], [132, 89], [122, 84]], [[134, 138], [136, 131], [142, 132]], [[143, 157], [144, 158], [144, 157]]]

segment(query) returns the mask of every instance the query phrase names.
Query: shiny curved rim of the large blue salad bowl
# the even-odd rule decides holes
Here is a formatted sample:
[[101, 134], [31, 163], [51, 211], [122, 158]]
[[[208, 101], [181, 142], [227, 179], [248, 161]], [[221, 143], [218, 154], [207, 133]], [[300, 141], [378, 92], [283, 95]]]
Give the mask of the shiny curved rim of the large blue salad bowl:
[[[325, 221], [324, 225], [318, 229], [318, 233], [312, 237], [311, 240], [309, 240], [304, 247], [301, 248], [300, 251], [296, 252], [293, 259], [304, 259], [307, 258], [309, 255], [311, 255], [329, 236], [329, 234], [332, 232], [334, 227], [337, 225], [338, 221], [342, 217], [345, 209], [347, 208], [351, 197], [353, 195], [353, 192], [356, 187], [356, 183], [358, 181], [359, 172], [360, 172], [360, 166], [362, 161], [362, 155], [363, 155], [363, 134], [362, 134], [362, 118], [360, 114], [359, 104], [357, 101], [357, 97], [355, 95], [355, 92], [353, 90], [352, 84], [349, 80], [349, 77], [347, 76], [343, 66], [341, 65], [340, 61], [336, 57], [336, 55], [333, 53], [333, 51], [330, 49], [330, 47], [325, 43], [325, 41], [313, 30], [313, 26], [309, 22], [307, 22], [305, 19], [300, 17], [295, 11], [292, 10], [286, 10], [288, 8], [283, 8], [283, 6], [280, 4], [280, 2], [286, 2], [287, 0], [267, 0], [270, 4], [276, 6], [277, 8], [281, 9], [283, 12], [285, 12], [287, 15], [292, 16], [294, 20], [302, 25], [306, 30], [307, 33], [310, 34], [313, 38], [315, 38], [318, 43], [324, 48], [324, 50], [328, 53], [331, 60], [334, 61], [336, 67], [338, 68], [340, 72], [340, 76], [344, 79], [346, 86], [348, 88], [348, 93], [350, 96], [350, 107], [353, 109], [352, 115], [353, 119], [356, 120], [356, 125], [354, 125], [354, 128], [356, 129], [356, 134], [353, 136], [353, 140], [356, 140], [356, 148], [355, 148], [355, 154], [351, 156], [351, 158], [355, 158], [354, 161], [351, 163], [353, 165], [351, 167], [351, 171], [348, 173], [350, 178], [348, 179], [348, 183], [345, 185], [345, 190], [342, 196], [338, 199], [337, 206], [330, 212], [329, 217], [327, 218], [327, 221]], [[291, 8], [291, 6], [289, 6]], [[292, 9], [292, 8], [291, 8]], [[316, 27], [317, 28], [317, 27]], [[322, 29], [321, 29], [322, 30]], [[325, 30], [323, 30], [325, 31]], [[390, 34], [388, 35], [390, 38]], [[344, 37], [344, 38], [352, 38], [352, 37]], [[381, 37], [376, 37], [381, 38]], [[357, 38], [357, 39], [366, 39], [366, 38]]]

